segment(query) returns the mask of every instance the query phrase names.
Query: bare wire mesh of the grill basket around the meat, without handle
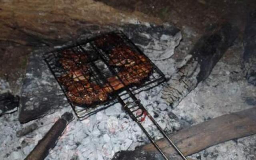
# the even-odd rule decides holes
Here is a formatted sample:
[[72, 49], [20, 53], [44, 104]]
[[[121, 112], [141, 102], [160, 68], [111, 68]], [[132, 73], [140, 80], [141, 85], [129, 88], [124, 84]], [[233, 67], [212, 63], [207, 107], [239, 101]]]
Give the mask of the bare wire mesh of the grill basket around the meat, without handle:
[[[149, 77], [151, 77], [152, 79], [148, 78], [146, 80], [143, 81], [143, 83], [139, 84], [139, 85], [129, 85], [129, 86], [125, 86], [124, 88], [120, 89], [120, 90], [116, 90], [114, 91], [114, 93], [112, 93], [108, 100], [105, 100], [104, 102], [98, 102], [98, 103], [94, 103], [92, 105], [84, 105], [84, 106], [80, 106], [77, 105], [73, 102], [71, 102], [67, 96], [67, 90], [66, 88], [59, 82], [58, 77], [56, 75], [56, 72], [54, 71], [54, 68], [52, 67], [52, 64], [54, 64], [53, 61], [50, 61], [48, 58], [50, 56], [54, 56], [54, 58], [56, 58], [55, 60], [59, 59], [61, 56], [61, 52], [64, 50], [72, 50], [72, 52], [76, 53], [76, 52], [81, 52], [81, 50], [83, 51], [83, 46], [84, 45], [88, 45], [91, 47], [92, 51], [94, 52], [94, 54], [97, 54], [96, 56], [98, 56], [98, 59], [93, 60], [91, 62], [88, 62], [88, 64], [90, 65], [90, 67], [93, 68], [94, 72], [92, 72], [92, 74], [94, 75], [94, 78], [96, 76], [100, 77], [100, 81], [106, 81], [106, 78], [108, 77], [102, 77], [102, 73], [99, 70], [99, 68], [96, 66], [96, 62], [97, 60], [101, 60], [102, 62], [104, 62], [107, 65], [108, 70], [113, 74], [112, 76], [116, 76], [116, 71], [113, 70], [113, 68], [111, 68], [111, 66], [109, 66], [108, 62], [106, 62], [106, 58], [104, 58], [104, 56], [108, 56], [108, 53], [106, 53], [107, 51], [104, 51], [100, 48], [98, 48], [94, 42], [95, 40], [97, 40], [98, 38], [107, 35], [107, 34], [117, 34], [118, 36], [120, 36], [122, 38], [122, 40], [124, 41], [125, 44], [127, 44], [128, 46], [130, 46], [135, 52], [137, 52], [138, 54], [141, 54], [143, 56], [145, 56], [145, 58], [150, 62], [150, 64], [152, 65], [152, 72], [154, 74], [157, 74], [157, 78], [153, 75], [153, 73], [149, 74]], [[79, 51], [80, 50], [80, 51]], [[57, 55], [58, 54], [58, 55]], [[90, 56], [88, 56], [90, 57]], [[115, 30], [112, 32], [107, 32], [92, 38], [88, 38], [86, 40], [80, 41], [80, 42], [75, 42], [72, 45], [69, 46], [65, 46], [63, 48], [58, 48], [55, 50], [52, 50], [50, 52], [46, 52], [43, 54], [43, 58], [44, 61], [46, 62], [46, 64], [48, 65], [48, 68], [50, 69], [50, 71], [52, 72], [52, 74], [54, 75], [54, 78], [57, 80], [60, 88], [62, 89], [62, 91], [64, 92], [70, 106], [72, 106], [72, 109], [74, 110], [74, 113], [76, 114], [76, 116], [79, 118], [79, 120], [84, 120], [86, 118], [88, 118], [89, 116], [96, 114], [97, 112], [99, 112], [100, 110], [104, 110], [112, 105], [114, 105], [115, 103], [120, 102], [120, 97], [125, 96], [125, 95], [129, 95], [127, 90], [129, 90], [132, 94], [138, 94], [144, 90], [150, 90], [151, 88], [161, 84], [162, 82], [166, 81], [166, 78], [164, 76], [164, 74], [162, 73], [162, 71], [138, 48], [138, 46], [136, 46], [122, 31], [120, 30]], [[108, 57], [109, 58], [109, 57]], [[55, 62], [56, 63], [56, 62]], [[56, 66], [55, 66], [56, 67]], [[58, 66], [59, 69], [62, 68], [61, 66]], [[57, 67], [56, 67], [57, 68]], [[63, 72], [66, 72], [63, 68], [62, 68]], [[96, 73], [95, 73], [96, 72]], [[96, 79], [95, 79], [96, 80]], [[122, 82], [122, 80], [119, 77], [119, 80]], [[130, 93], [130, 94], [131, 94]], [[129, 96], [127, 97], [127, 99], [129, 98]], [[119, 100], [118, 100], [119, 99]]]

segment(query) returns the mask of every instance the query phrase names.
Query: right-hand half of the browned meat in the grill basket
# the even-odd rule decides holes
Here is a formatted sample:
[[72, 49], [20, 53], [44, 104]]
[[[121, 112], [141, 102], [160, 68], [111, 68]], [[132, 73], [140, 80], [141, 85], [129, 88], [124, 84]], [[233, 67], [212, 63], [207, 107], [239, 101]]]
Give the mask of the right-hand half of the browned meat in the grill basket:
[[149, 60], [144, 55], [132, 51], [129, 46], [113, 48], [110, 53], [109, 64], [123, 67], [123, 70], [118, 72], [118, 76], [108, 78], [108, 82], [114, 90], [123, 88], [124, 85], [140, 84], [141, 80], [148, 77], [152, 71]]

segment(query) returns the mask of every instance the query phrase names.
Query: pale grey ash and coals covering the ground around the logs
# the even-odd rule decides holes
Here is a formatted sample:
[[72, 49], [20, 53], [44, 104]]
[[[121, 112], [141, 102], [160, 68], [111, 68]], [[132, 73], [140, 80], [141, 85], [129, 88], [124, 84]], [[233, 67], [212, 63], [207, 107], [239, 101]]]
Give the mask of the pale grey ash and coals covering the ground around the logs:
[[[150, 37], [152, 39], [148, 42], [150, 45], [138, 45], [144, 48], [145, 54], [166, 74], [167, 78], [181, 65], [176, 54], [185, 55], [191, 47], [188, 39], [194, 33], [188, 28], [185, 31], [183, 34], [186, 38], [181, 42], [180, 34], [176, 34], [176, 36]], [[178, 46], [179, 42], [180, 46]], [[174, 54], [176, 46], [178, 46], [177, 53]], [[216, 64], [210, 76], [175, 108], [168, 106], [161, 98], [164, 84], [141, 92], [137, 98], [168, 133], [223, 114], [254, 107], [256, 89], [244, 78], [241, 69], [242, 52], [242, 44], [237, 40]], [[9, 89], [9, 85], [4, 80], [0, 83], [1, 90]], [[66, 111], [72, 112], [72, 109], [66, 106], [27, 124], [20, 124], [17, 112], [0, 117], [0, 159], [24, 159], [38, 140]], [[39, 128], [21, 138], [16, 136], [16, 131], [32, 123], [37, 123]], [[162, 137], [147, 118], [143, 124], [155, 139]], [[139, 126], [122, 110], [120, 104], [115, 104], [86, 120], [70, 122], [46, 160], [110, 160], [115, 152], [134, 150], [136, 146], [147, 142], [149, 142], [148, 138]], [[212, 146], [190, 157], [197, 160], [256, 160], [255, 150], [256, 135], [253, 135]]]

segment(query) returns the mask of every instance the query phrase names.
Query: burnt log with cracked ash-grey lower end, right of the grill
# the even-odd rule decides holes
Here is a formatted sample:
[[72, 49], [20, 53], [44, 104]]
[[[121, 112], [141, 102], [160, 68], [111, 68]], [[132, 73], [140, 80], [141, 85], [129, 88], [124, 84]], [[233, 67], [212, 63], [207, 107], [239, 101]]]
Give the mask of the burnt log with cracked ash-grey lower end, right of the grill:
[[209, 76], [237, 35], [238, 29], [227, 23], [213, 34], [200, 38], [186, 56], [186, 64], [168, 81], [162, 91], [162, 98], [166, 99], [170, 106], [177, 106], [199, 82]]

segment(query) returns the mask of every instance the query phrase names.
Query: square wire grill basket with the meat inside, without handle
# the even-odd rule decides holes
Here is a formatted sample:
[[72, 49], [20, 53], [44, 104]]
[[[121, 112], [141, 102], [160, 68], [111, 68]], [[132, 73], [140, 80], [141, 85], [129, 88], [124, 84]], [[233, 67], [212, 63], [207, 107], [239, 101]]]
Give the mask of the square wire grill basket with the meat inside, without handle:
[[80, 119], [118, 102], [127, 88], [138, 94], [165, 80], [121, 31], [47, 52], [44, 60]]

